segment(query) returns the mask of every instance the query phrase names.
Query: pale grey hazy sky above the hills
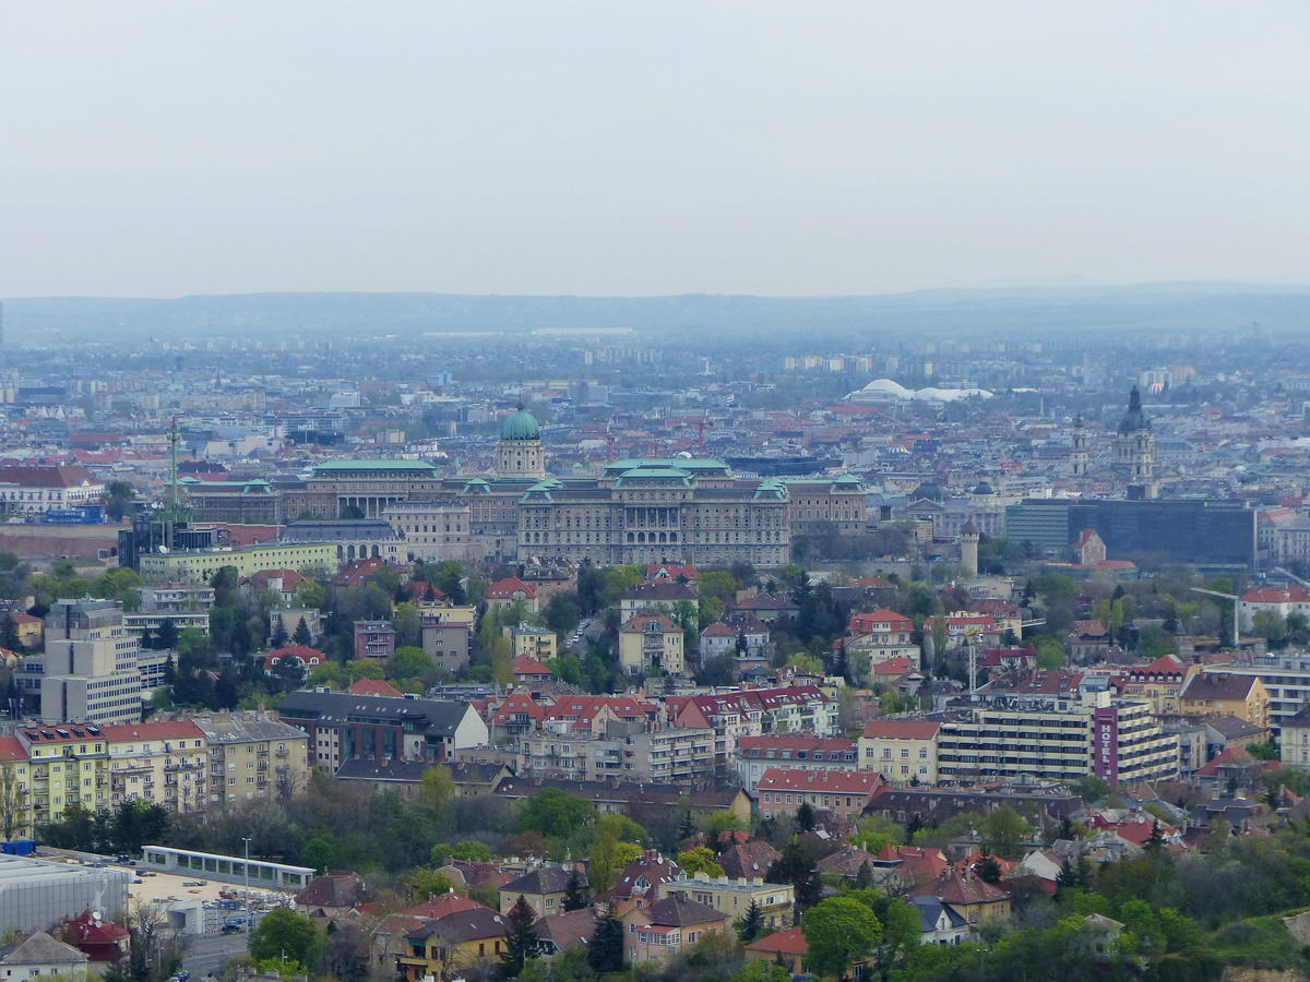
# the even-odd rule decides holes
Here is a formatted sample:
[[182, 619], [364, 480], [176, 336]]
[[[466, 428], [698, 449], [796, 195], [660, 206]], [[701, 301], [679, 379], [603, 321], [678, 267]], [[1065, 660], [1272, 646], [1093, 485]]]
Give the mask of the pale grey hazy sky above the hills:
[[0, 296], [1310, 282], [1310, 4], [0, 0]]

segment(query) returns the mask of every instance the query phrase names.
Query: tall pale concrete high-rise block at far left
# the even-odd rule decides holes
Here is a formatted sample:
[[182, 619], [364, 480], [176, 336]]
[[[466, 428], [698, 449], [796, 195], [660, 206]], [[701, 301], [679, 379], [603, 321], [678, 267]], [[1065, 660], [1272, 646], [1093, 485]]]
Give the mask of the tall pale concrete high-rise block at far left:
[[140, 646], [122, 604], [59, 600], [46, 613], [46, 649], [24, 657], [20, 691], [50, 723], [128, 723], [141, 718]]

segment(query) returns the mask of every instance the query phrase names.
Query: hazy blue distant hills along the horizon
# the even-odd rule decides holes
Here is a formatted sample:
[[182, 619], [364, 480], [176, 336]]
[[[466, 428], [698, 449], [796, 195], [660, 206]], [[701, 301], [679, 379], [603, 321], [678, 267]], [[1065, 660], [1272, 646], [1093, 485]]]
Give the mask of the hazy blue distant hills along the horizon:
[[1005, 336], [1070, 331], [1310, 331], [1310, 287], [1148, 283], [1128, 287], [930, 289], [834, 297], [686, 293], [655, 297], [458, 293], [233, 293], [168, 300], [21, 297], [4, 301], [5, 344], [206, 335], [324, 338], [633, 327], [731, 343], [882, 334]]

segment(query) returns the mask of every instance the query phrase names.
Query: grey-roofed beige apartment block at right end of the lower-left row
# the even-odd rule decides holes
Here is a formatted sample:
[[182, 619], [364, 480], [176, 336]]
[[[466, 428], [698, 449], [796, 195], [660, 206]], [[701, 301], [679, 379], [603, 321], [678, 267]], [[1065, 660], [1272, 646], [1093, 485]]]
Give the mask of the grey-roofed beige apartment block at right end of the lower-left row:
[[210, 746], [210, 803], [290, 797], [309, 782], [308, 737], [259, 714], [200, 718]]

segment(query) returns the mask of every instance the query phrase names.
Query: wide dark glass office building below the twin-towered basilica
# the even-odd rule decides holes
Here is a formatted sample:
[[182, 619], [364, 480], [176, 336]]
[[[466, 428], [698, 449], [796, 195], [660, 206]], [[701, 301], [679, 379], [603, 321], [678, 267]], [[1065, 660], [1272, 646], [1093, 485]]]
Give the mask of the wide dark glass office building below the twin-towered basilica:
[[1006, 538], [1061, 559], [1079, 532], [1094, 529], [1111, 559], [1157, 556], [1205, 570], [1255, 566], [1255, 512], [1242, 501], [1030, 499], [1006, 508], [1005, 520]]

